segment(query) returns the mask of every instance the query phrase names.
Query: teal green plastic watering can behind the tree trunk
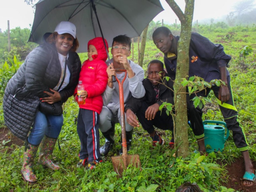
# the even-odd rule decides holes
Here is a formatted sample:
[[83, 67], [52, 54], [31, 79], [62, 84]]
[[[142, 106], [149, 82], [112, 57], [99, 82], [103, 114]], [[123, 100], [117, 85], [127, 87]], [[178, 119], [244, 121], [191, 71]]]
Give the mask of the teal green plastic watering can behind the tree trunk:
[[[222, 152], [224, 149], [224, 144], [229, 136], [229, 130], [227, 129], [226, 123], [222, 121], [206, 120], [203, 121], [203, 125], [206, 152]], [[225, 129], [227, 130], [226, 136]]]

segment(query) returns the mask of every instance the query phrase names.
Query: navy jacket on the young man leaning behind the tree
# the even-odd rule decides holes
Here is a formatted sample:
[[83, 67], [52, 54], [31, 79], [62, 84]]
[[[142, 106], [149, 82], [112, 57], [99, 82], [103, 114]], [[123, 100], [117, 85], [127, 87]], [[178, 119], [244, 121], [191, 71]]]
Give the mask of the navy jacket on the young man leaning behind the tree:
[[[179, 36], [174, 36], [176, 42]], [[197, 33], [191, 34], [189, 47], [189, 76], [199, 76], [205, 81], [220, 79], [219, 67], [228, 66], [231, 56], [225, 54], [221, 44], [214, 44], [208, 38]], [[164, 55], [164, 64], [168, 76], [175, 79], [177, 58]], [[227, 70], [227, 76], [229, 72]]]

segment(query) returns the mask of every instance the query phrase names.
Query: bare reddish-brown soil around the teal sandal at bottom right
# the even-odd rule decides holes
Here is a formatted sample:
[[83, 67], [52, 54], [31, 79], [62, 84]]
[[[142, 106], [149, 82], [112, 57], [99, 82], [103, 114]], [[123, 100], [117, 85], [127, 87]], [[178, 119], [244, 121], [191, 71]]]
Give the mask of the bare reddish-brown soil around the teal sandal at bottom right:
[[[253, 164], [255, 165], [255, 162], [253, 162]], [[227, 188], [232, 188], [240, 192], [256, 191], [256, 184], [251, 187], [241, 185], [241, 180], [245, 172], [243, 158], [238, 158], [235, 162], [232, 162], [231, 165], [227, 165], [226, 170], [228, 171], [228, 181], [227, 183], [222, 183], [222, 186], [226, 186]]]

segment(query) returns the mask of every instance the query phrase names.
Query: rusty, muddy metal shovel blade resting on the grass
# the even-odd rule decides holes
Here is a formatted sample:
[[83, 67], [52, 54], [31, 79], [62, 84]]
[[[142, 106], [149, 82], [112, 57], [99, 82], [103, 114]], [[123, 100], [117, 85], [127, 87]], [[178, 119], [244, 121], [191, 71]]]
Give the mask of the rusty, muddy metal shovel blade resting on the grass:
[[112, 156], [112, 163], [118, 177], [122, 177], [122, 173], [129, 164], [136, 168], [140, 168], [140, 156], [138, 154], [125, 155], [125, 156]]

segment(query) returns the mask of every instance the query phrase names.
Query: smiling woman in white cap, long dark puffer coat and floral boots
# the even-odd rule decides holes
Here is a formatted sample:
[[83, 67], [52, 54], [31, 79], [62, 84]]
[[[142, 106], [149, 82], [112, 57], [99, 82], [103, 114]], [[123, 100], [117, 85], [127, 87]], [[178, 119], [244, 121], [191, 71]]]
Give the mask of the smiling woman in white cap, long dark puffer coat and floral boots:
[[60, 22], [46, 42], [28, 54], [6, 86], [4, 120], [12, 133], [26, 142], [21, 173], [29, 183], [37, 181], [32, 166], [39, 144], [38, 162], [52, 170], [60, 168], [49, 156], [60, 134], [63, 116], [44, 114], [38, 106], [40, 102], [64, 103], [73, 95], [81, 70], [78, 45], [74, 24]]

